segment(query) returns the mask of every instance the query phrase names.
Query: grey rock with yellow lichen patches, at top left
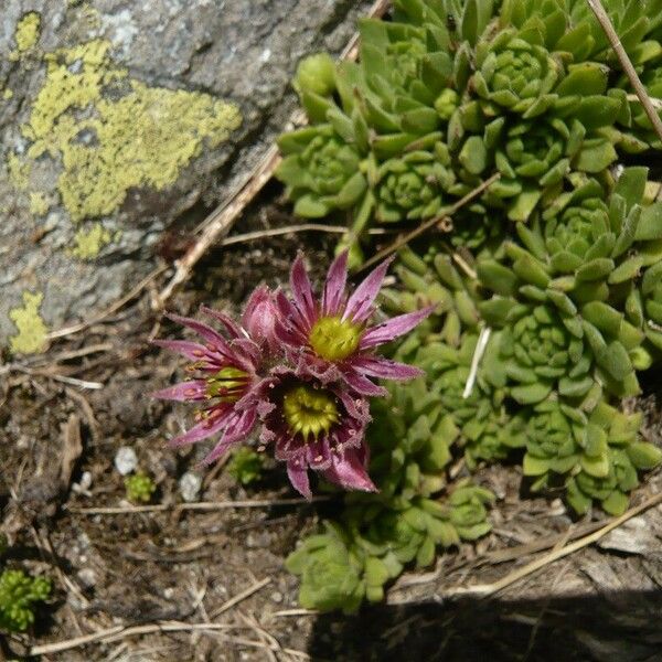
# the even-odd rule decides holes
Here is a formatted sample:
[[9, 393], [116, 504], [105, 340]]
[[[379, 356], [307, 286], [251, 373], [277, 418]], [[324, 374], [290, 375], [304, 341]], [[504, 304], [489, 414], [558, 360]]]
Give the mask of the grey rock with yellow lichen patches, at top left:
[[297, 62], [367, 1], [4, 0], [0, 350], [100, 311], [282, 130]]

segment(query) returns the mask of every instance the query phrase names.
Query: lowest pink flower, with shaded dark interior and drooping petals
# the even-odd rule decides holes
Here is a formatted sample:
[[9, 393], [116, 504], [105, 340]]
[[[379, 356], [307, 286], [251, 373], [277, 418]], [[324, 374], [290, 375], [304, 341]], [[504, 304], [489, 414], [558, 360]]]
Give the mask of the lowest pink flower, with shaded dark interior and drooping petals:
[[275, 369], [253, 393], [263, 427], [260, 441], [275, 444], [275, 456], [287, 462], [290, 482], [310, 499], [308, 470], [350, 490], [376, 490], [366, 467], [365, 427], [370, 406], [343, 384], [325, 385]]

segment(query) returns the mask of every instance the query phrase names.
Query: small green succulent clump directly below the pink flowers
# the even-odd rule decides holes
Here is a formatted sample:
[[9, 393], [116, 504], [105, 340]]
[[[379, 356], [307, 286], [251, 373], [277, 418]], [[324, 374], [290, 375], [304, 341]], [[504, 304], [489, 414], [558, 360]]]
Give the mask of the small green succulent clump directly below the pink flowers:
[[375, 403], [367, 435], [378, 491], [346, 494], [341, 516], [324, 522], [324, 531], [305, 538], [286, 562], [301, 577], [303, 607], [353, 612], [363, 600], [382, 600], [384, 585], [405, 565], [429, 566], [438, 547], [490, 530], [492, 493], [467, 480], [446, 483], [453, 423], [438, 393], [423, 378], [389, 391], [391, 402]]

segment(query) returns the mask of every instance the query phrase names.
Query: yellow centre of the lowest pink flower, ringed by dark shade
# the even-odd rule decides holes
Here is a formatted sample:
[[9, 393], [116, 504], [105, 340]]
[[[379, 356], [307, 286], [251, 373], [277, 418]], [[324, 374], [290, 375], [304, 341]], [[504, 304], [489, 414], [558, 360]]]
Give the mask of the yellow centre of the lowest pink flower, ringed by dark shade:
[[285, 420], [292, 435], [301, 435], [308, 442], [321, 433], [328, 433], [339, 420], [335, 399], [328, 391], [310, 386], [295, 386], [282, 397]]

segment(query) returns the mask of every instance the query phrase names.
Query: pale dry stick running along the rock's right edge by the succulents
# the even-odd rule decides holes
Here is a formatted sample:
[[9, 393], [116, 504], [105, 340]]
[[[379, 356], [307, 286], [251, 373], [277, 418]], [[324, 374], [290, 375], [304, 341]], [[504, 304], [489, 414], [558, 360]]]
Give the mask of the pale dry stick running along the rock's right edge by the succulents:
[[[367, 15], [371, 18], [383, 15], [387, 7], [388, 0], [376, 0]], [[354, 60], [356, 57], [359, 53], [357, 39], [357, 35], [352, 38], [343, 51], [342, 57], [346, 60]], [[297, 110], [291, 121], [295, 125], [301, 125], [306, 122], [306, 118], [300, 110]], [[174, 275], [158, 295], [157, 303], [159, 308], [162, 309], [175, 288], [189, 278], [191, 269], [193, 269], [207, 249], [229, 232], [234, 222], [271, 179], [280, 161], [281, 157], [278, 147], [273, 146], [261, 158], [255, 170], [253, 170], [245, 185], [235, 195], [232, 195], [229, 200], [216, 207], [210, 214], [209, 218], [203, 222], [204, 229], [202, 234], [186, 254], [175, 263]]]

